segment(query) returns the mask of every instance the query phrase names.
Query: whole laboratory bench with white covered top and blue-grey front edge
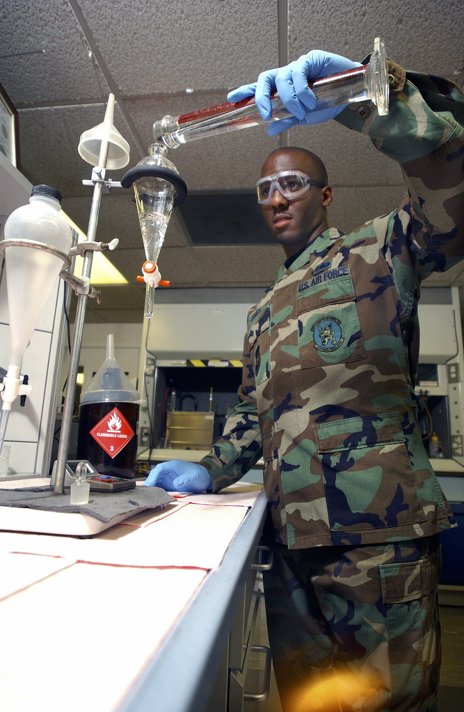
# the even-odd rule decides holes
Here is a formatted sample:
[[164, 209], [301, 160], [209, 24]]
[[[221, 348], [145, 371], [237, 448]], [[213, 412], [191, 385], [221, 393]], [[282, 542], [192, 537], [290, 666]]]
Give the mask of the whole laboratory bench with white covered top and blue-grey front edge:
[[244, 687], [266, 505], [240, 483], [91, 538], [1, 531], [0, 708], [240, 712], [264, 698]]

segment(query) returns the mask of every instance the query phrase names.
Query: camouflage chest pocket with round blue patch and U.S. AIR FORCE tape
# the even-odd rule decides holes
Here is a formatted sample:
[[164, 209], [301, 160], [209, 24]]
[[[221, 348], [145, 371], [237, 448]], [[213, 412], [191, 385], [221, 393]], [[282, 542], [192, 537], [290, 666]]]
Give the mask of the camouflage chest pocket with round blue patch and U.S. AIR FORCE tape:
[[[315, 284], [299, 285], [298, 347], [301, 368], [359, 361], [366, 357], [356, 294], [348, 268], [335, 268]], [[314, 279], [313, 279], [314, 282]]]

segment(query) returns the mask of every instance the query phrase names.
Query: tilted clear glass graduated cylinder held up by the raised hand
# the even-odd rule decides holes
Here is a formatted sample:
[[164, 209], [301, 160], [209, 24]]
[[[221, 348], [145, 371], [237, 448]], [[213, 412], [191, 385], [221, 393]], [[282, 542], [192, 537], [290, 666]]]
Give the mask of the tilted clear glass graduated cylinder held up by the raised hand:
[[[388, 69], [385, 44], [376, 37], [368, 64], [339, 74], [317, 78], [309, 82], [316, 95], [318, 109], [371, 100], [379, 115], [388, 114]], [[279, 100], [277, 91], [271, 95], [272, 119], [279, 120], [291, 114]], [[165, 116], [153, 124], [155, 141], [163, 141], [169, 148], [207, 136], [215, 136], [251, 126], [267, 124], [256, 108], [254, 97], [237, 103], [218, 104], [180, 116]]]

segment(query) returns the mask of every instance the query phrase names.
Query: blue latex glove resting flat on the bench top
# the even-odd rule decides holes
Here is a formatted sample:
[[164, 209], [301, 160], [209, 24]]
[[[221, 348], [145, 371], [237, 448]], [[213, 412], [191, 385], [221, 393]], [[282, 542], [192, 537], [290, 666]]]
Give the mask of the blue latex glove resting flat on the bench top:
[[171, 460], [154, 467], [144, 485], [161, 487], [167, 492], [204, 492], [212, 488], [212, 481], [202, 465]]

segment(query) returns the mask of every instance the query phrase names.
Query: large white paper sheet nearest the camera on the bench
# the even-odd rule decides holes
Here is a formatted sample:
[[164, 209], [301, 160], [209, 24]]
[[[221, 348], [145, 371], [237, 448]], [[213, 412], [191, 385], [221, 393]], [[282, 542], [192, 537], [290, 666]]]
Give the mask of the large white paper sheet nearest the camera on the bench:
[[0, 709], [114, 711], [206, 576], [75, 564], [6, 598]]

